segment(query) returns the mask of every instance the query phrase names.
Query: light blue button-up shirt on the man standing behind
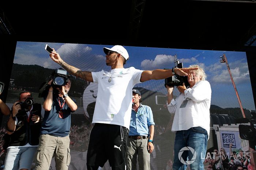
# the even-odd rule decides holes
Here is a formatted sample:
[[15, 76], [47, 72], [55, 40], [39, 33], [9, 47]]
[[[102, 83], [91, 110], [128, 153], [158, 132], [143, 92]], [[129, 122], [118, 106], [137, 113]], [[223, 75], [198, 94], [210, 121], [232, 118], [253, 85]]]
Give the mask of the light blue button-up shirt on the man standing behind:
[[132, 109], [129, 136], [149, 136], [148, 127], [155, 125], [149, 106], [140, 104], [137, 113]]

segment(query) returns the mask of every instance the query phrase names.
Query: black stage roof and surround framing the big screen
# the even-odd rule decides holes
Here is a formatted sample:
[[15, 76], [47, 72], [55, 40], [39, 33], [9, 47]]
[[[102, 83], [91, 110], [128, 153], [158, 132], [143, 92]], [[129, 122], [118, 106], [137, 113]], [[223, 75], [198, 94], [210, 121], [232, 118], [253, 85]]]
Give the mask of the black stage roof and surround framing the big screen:
[[0, 81], [9, 83], [16, 41], [246, 51], [255, 97], [256, 47], [244, 46], [255, 9], [253, 0], [4, 2]]

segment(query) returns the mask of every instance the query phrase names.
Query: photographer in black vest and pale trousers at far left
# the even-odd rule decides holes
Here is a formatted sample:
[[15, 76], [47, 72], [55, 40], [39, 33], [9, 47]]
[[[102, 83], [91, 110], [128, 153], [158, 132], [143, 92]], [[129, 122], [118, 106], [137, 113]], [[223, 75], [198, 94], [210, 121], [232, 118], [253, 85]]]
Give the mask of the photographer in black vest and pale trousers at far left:
[[10, 141], [4, 170], [29, 170], [31, 168], [39, 142], [41, 109], [41, 104], [34, 103], [30, 92], [19, 94], [19, 100], [12, 106], [7, 122], [7, 134], [9, 134]]

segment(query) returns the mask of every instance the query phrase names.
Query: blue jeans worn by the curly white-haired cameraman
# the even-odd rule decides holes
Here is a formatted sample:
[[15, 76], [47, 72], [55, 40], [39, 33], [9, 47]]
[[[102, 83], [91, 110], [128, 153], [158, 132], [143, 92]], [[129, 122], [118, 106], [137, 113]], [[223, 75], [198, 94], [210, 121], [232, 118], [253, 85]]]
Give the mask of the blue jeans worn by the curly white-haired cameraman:
[[[177, 131], [174, 142], [173, 170], [185, 170], [187, 165], [190, 166], [191, 170], [204, 170], [203, 162], [206, 155], [207, 138], [207, 131], [202, 127]], [[181, 149], [183, 151], [180, 151]], [[193, 150], [196, 156], [192, 153]]]

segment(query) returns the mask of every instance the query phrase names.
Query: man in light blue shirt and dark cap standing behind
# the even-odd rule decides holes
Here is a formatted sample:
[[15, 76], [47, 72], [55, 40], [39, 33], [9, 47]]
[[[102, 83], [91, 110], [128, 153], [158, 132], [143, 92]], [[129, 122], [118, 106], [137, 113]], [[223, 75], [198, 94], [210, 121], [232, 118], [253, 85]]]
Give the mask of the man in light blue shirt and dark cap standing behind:
[[137, 155], [140, 170], [150, 170], [150, 154], [154, 150], [154, 120], [149, 106], [142, 105], [138, 89], [132, 89], [132, 115], [127, 144], [128, 170], [136, 170]]

